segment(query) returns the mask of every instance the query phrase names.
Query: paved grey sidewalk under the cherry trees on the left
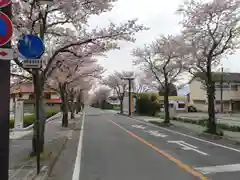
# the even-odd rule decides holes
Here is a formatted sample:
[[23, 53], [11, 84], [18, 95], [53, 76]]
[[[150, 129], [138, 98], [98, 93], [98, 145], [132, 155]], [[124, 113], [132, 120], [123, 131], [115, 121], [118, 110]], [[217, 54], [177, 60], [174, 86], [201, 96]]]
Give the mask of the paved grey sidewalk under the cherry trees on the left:
[[[50, 163], [58, 154], [66, 140], [71, 136], [72, 128], [81, 115], [69, 120], [69, 127], [61, 127], [61, 117], [48, 122], [45, 129], [45, 152], [41, 157], [42, 167]], [[29, 158], [32, 148], [32, 130], [15, 132], [17, 138], [10, 141], [9, 180], [32, 180], [36, 175], [36, 158]], [[12, 135], [13, 137], [14, 135]]]

